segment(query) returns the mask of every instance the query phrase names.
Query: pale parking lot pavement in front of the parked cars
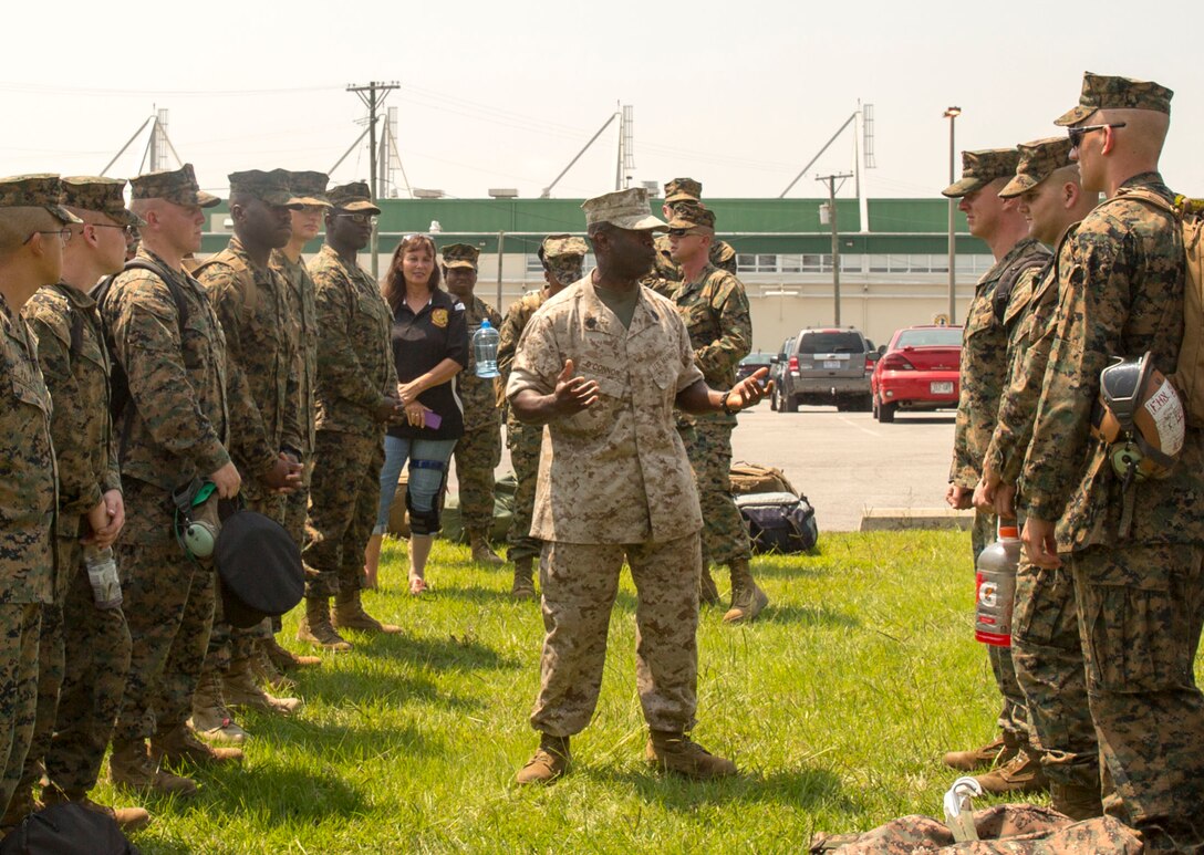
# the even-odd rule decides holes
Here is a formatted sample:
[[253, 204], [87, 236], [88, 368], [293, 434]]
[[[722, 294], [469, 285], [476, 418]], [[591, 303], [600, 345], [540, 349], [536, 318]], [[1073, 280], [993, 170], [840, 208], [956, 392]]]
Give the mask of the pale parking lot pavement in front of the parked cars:
[[815, 507], [820, 531], [856, 531], [873, 508], [944, 508], [954, 413], [901, 412], [892, 424], [869, 413], [767, 402], [740, 413], [732, 459], [777, 466]]

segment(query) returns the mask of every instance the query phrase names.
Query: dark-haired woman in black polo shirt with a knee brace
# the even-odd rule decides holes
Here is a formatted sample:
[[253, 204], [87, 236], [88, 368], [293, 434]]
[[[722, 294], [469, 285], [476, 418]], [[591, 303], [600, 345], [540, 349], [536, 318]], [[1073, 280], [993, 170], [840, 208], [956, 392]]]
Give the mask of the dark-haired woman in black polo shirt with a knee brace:
[[397, 244], [382, 290], [393, 309], [393, 359], [406, 420], [389, 425], [385, 435], [380, 505], [365, 572], [374, 586], [389, 507], [408, 459], [409, 592], [418, 595], [426, 590], [426, 559], [439, 530], [438, 500], [448, 459], [464, 434], [453, 378], [468, 364], [468, 328], [464, 306], [439, 289], [435, 243], [425, 235], [409, 235]]

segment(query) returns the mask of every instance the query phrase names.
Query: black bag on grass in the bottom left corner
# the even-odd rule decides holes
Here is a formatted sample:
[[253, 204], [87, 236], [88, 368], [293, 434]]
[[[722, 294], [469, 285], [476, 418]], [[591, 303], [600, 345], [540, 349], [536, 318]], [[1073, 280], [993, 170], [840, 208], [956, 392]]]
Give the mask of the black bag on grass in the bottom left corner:
[[0, 841], [0, 855], [138, 855], [111, 816], [61, 802], [30, 814]]

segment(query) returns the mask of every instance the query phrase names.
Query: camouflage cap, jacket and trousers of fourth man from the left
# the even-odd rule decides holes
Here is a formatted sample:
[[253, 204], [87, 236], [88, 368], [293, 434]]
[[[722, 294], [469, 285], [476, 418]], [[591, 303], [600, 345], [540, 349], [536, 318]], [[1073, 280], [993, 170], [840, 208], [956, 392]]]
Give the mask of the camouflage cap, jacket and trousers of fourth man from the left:
[[[278, 173], [278, 175], [277, 175]], [[271, 205], [284, 205], [291, 195], [283, 170], [272, 173], [238, 173], [230, 176], [231, 193], [246, 189]], [[226, 337], [228, 359], [237, 365], [247, 381], [249, 409], [255, 413], [256, 430], [277, 452], [291, 449], [301, 453], [301, 426], [297, 420], [297, 328], [293, 323], [289, 287], [270, 265], [256, 264], [237, 235], [229, 246], [200, 265], [193, 273], [205, 287], [209, 302], [222, 322]], [[284, 524], [285, 496], [275, 493], [262, 482], [262, 470], [244, 460], [236, 450], [235, 464], [244, 473], [240, 495], [250, 511]], [[218, 583], [220, 585], [220, 582]], [[271, 621], [256, 626], [232, 627], [222, 614], [222, 597], [217, 597], [217, 615], [209, 639], [205, 667], [225, 671], [231, 659], [253, 654], [256, 638], [271, 635]]]

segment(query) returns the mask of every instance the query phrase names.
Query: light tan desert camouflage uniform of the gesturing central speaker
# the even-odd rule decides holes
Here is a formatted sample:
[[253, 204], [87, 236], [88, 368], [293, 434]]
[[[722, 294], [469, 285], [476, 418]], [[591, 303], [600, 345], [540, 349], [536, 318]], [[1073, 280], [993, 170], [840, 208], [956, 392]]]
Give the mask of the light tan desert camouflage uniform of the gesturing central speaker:
[[544, 434], [531, 533], [544, 541], [547, 635], [531, 724], [565, 737], [592, 717], [626, 556], [639, 597], [636, 685], [644, 718], [654, 731], [687, 731], [697, 703], [698, 621], [687, 568], [700, 561], [702, 517], [673, 402], [702, 372], [671, 302], [639, 289], [624, 329], [589, 277], [527, 324], [507, 396], [550, 394], [567, 358], [579, 376], [597, 381], [601, 395]]

